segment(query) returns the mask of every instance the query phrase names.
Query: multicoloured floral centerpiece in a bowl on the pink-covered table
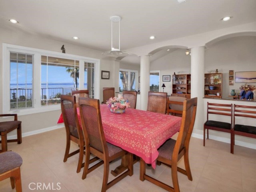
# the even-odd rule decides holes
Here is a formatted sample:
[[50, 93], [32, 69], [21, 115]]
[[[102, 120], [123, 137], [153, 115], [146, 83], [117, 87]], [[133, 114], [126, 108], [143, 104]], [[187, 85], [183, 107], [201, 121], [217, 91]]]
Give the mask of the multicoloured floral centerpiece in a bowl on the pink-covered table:
[[106, 104], [110, 108], [110, 111], [114, 113], [123, 113], [126, 108], [130, 107], [129, 101], [125, 100], [121, 94], [118, 94], [118, 97], [111, 97]]

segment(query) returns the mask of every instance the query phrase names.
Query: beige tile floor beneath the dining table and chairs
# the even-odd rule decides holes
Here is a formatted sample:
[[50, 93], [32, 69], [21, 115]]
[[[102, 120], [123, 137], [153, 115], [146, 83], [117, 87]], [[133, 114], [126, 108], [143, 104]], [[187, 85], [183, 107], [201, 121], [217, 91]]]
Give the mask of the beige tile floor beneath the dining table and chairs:
[[[175, 137], [175, 136], [174, 136]], [[23, 158], [21, 166], [23, 192], [61, 191], [61, 192], [100, 192], [103, 178], [103, 166], [100, 166], [82, 180], [82, 171], [76, 173], [78, 154], [63, 162], [66, 146], [64, 128], [24, 137], [22, 144], [8, 143], [8, 150], [20, 154]], [[77, 149], [72, 143], [71, 150]], [[190, 167], [193, 181], [183, 174], [178, 174], [182, 192], [256, 192], [256, 150], [235, 146], [234, 154], [230, 154], [230, 145], [214, 140], [203, 141], [191, 138]], [[110, 170], [120, 164], [120, 160], [112, 162]], [[184, 168], [183, 159], [179, 166]], [[83, 170], [83, 169], [82, 169]], [[161, 165], [156, 170], [147, 168], [153, 177], [172, 184], [170, 168]], [[114, 177], [110, 174], [109, 179]], [[50, 183], [51, 190], [30, 190], [30, 183]], [[57, 183], [60, 186], [60, 190]], [[30, 185], [35, 188], [34, 184]], [[53, 190], [55, 189], [55, 190]], [[148, 181], [139, 179], [139, 163], [134, 164], [134, 174], [127, 176], [108, 192], [164, 192], [162, 188]], [[0, 182], [0, 192], [15, 192], [10, 179]]]

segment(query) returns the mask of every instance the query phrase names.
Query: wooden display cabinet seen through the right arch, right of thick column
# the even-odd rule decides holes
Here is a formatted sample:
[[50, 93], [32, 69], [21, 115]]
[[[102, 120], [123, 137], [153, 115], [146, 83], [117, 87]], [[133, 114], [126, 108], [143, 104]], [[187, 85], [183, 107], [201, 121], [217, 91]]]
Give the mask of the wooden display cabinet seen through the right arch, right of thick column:
[[204, 74], [204, 97], [222, 98], [222, 73]]

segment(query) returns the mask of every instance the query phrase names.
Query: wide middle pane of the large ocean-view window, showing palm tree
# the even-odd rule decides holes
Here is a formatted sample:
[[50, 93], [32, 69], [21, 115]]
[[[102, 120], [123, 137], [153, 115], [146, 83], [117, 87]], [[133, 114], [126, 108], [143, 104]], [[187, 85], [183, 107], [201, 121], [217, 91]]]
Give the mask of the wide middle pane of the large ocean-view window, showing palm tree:
[[60, 95], [79, 88], [79, 61], [41, 56], [41, 105], [60, 103]]

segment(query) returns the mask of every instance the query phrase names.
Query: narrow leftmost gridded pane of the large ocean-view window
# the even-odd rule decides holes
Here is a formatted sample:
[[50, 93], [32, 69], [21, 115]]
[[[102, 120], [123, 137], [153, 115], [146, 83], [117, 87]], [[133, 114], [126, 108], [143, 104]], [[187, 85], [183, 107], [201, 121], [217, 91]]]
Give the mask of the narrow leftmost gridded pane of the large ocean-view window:
[[33, 107], [33, 55], [10, 52], [10, 110]]

